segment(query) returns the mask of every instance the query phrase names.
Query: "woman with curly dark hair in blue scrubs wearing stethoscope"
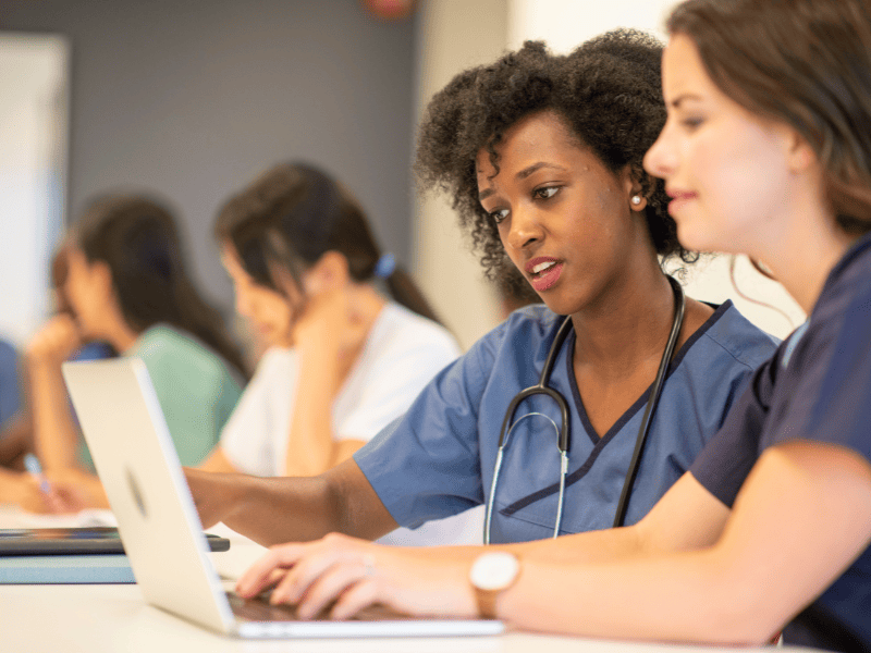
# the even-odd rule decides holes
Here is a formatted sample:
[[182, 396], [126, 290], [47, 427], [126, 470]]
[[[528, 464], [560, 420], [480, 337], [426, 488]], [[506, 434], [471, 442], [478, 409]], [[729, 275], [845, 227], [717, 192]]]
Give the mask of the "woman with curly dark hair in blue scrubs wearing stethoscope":
[[[527, 44], [461, 73], [432, 99], [418, 144], [425, 186], [453, 198], [492, 276], [515, 267], [544, 305], [512, 313], [317, 485], [192, 475], [204, 521], [222, 519], [269, 543], [332, 531], [373, 539], [492, 500], [490, 541], [523, 542], [634, 523], [648, 513], [774, 350], [731, 303], [687, 299], [640, 464], [626, 483], [682, 297], [659, 256], [694, 258], [675, 238], [662, 183], [642, 169], [665, 121], [661, 56], [659, 41], [636, 32], [609, 33], [568, 57]], [[514, 412], [493, 492], [503, 419], [512, 398], [539, 382], [550, 352], [548, 385], [567, 404], [564, 490], [561, 410], [539, 394]], [[624, 485], [628, 504], [617, 515]], [[305, 555], [292, 551], [282, 555]], [[265, 578], [241, 589], [247, 594]], [[289, 582], [298, 578], [294, 571]], [[273, 600], [298, 597], [290, 587]]]

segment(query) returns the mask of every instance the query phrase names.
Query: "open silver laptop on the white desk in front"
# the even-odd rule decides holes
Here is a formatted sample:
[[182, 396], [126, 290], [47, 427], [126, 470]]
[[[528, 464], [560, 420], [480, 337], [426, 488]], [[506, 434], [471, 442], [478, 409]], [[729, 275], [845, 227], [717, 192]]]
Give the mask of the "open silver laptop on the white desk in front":
[[499, 634], [501, 621], [407, 618], [299, 621], [293, 608], [224, 592], [148, 371], [142, 360], [68, 362], [63, 375], [148, 603], [243, 638]]

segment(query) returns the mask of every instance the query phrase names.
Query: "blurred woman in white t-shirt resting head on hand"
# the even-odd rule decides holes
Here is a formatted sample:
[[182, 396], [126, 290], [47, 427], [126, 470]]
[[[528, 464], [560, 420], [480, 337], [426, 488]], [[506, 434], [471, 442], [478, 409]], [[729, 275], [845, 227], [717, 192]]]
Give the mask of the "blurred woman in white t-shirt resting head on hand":
[[[236, 310], [270, 345], [201, 467], [311, 477], [402, 416], [459, 355], [351, 194], [306, 163], [281, 163], [228, 200], [216, 235]], [[392, 300], [382, 294], [383, 285]], [[474, 542], [461, 515], [388, 542]]]

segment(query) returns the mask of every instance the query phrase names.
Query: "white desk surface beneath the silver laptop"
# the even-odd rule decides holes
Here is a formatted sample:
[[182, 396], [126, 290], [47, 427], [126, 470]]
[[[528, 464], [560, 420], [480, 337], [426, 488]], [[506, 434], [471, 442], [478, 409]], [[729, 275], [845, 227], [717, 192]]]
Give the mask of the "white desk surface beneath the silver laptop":
[[[60, 523], [56, 523], [60, 526]], [[0, 509], [0, 528], [37, 526], [29, 517]], [[47, 526], [39, 525], [39, 526]], [[216, 568], [234, 578], [263, 549], [230, 529], [229, 552], [213, 553]], [[232, 582], [226, 583], [232, 589]], [[499, 637], [357, 640], [237, 640], [147, 605], [135, 584], [0, 586], [0, 651], [46, 653], [223, 653], [225, 651], [315, 653], [736, 653], [736, 649], [604, 642], [510, 632]], [[788, 653], [808, 649], [739, 649], [741, 653]]]

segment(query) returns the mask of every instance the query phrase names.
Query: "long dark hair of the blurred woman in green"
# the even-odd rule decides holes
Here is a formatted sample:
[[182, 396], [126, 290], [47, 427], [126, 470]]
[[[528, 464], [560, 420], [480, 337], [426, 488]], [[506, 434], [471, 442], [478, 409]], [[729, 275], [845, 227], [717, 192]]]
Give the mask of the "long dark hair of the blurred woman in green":
[[88, 261], [109, 267], [131, 329], [143, 333], [161, 322], [171, 324], [195, 335], [247, 378], [223, 318], [187, 276], [175, 219], [164, 206], [145, 197], [102, 197], [89, 205], [75, 234]]

